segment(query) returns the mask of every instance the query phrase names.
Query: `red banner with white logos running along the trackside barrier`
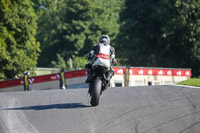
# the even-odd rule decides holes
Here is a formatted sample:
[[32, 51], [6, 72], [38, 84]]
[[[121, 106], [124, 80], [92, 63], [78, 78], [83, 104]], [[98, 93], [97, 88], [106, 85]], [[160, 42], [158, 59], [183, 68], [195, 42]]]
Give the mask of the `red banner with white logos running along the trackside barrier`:
[[[125, 68], [113, 68], [115, 75], [124, 75]], [[157, 75], [157, 76], [187, 76], [191, 77], [191, 69], [165, 69], [165, 68], [130, 68], [130, 75]], [[65, 72], [65, 79], [86, 77], [86, 70], [77, 70], [71, 72]], [[41, 83], [59, 80], [59, 73], [49, 74], [43, 76], [30, 77], [29, 83]], [[1, 81], [0, 88], [14, 87], [24, 85], [23, 79]]]

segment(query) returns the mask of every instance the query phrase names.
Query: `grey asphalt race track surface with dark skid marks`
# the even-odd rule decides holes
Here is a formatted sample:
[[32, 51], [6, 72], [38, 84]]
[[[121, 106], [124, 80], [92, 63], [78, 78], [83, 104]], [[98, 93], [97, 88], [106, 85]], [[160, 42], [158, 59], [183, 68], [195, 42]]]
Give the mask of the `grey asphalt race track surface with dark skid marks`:
[[109, 88], [0, 93], [0, 133], [200, 133], [200, 89]]

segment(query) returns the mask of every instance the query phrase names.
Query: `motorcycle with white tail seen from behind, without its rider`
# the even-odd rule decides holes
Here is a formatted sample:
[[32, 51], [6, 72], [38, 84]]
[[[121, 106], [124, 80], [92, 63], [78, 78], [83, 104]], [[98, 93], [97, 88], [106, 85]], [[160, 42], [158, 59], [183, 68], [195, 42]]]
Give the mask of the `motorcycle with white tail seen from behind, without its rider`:
[[114, 71], [111, 69], [110, 56], [104, 54], [94, 55], [92, 80], [89, 83], [88, 91], [91, 96], [90, 104], [92, 106], [99, 105], [100, 95], [109, 87], [112, 76], [114, 76]]

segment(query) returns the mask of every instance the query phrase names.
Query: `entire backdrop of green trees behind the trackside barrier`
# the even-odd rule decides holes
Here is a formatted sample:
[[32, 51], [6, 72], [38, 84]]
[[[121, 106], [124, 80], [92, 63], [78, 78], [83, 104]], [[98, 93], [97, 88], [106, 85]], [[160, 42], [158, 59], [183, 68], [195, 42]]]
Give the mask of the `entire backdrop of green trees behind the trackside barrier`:
[[102, 34], [118, 65], [192, 68], [197, 77], [199, 10], [198, 0], [0, 0], [0, 78], [84, 68]]

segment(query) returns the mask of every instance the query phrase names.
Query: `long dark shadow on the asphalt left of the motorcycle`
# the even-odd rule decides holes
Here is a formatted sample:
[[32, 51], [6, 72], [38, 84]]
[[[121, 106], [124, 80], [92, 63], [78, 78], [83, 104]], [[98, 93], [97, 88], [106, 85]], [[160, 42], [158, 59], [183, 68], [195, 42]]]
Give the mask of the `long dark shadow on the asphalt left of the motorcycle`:
[[87, 108], [91, 107], [81, 103], [65, 103], [65, 104], [50, 104], [50, 105], [36, 105], [26, 106], [20, 108], [6, 108], [3, 110], [48, 110], [48, 109], [74, 109], [74, 108]]

